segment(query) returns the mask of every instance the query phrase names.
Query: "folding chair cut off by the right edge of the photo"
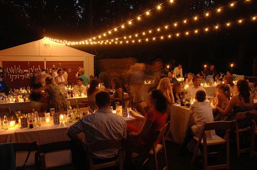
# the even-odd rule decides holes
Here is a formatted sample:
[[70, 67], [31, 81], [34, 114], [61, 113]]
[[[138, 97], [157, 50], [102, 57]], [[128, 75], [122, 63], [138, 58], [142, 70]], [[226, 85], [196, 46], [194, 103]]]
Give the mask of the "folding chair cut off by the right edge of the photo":
[[255, 137], [257, 136], [256, 124], [257, 124], [257, 111], [251, 111], [250, 113], [251, 121], [251, 148], [250, 157], [257, 156], [257, 151], [255, 151]]

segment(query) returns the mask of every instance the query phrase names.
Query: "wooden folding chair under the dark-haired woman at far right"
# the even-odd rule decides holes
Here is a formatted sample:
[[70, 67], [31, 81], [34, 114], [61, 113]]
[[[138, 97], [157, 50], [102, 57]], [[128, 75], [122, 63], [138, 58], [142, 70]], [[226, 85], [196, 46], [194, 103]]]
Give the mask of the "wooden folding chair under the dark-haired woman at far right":
[[249, 118], [249, 112], [238, 112], [235, 116], [235, 139], [236, 139], [236, 155], [240, 157], [241, 153], [250, 152], [250, 147], [240, 148], [240, 134], [243, 132], [251, 131], [251, 125], [249, 124], [246, 128], [239, 129], [238, 121]]

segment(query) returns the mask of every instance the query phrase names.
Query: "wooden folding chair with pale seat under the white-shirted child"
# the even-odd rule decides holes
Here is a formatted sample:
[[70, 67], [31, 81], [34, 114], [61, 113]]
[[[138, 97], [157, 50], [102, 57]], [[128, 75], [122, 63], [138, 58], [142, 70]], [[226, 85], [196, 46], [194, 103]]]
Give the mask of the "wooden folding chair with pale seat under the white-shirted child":
[[[216, 122], [204, 123], [203, 128], [201, 129], [199, 138], [194, 136], [194, 140], [197, 141], [197, 144], [194, 148], [194, 155], [191, 159], [191, 163], [195, 162], [195, 158], [196, 158], [199, 146], [201, 144], [204, 146], [204, 169], [222, 169], [222, 168], [229, 169], [230, 168], [230, 164], [229, 164], [229, 134], [230, 134], [231, 129], [234, 126], [234, 122], [235, 121], [232, 120], [232, 121], [216, 121]], [[221, 138], [221, 137], [215, 135], [214, 139], [207, 139], [205, 131], [211, 131], [211, 130], [226, 130], [226, 135], [224, 138]], [[208, 154], [217, 154], [218, 152], [207, 153], [207, 146], [221, 145], [221, 144], [226, 144], [226, 151], [227, 151], [226, 164], [208, 166], [208, 160], [207, 160]]]

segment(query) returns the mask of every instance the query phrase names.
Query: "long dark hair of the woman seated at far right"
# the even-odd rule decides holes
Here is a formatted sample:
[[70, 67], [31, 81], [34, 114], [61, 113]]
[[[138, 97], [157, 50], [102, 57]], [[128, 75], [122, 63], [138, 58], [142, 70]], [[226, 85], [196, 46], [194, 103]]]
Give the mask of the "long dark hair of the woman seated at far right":
[[249, 85], [248, 81], [246, 80], [238, 80], [236, 83], [238, 88], [238, 96], [243, 97], [246, 103], [250, 103], [250, 92], [249, 92]]

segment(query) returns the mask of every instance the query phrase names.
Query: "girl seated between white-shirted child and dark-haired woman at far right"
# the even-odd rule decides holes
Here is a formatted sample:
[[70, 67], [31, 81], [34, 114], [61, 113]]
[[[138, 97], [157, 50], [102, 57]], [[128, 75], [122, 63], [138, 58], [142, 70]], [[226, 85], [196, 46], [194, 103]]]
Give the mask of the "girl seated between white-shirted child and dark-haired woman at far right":
[[[229, 87], [226, 84], [218, 84], [215, 95], [217, 97], [218, 107], [225, 110], [230, 100]], [[226, 116], [223, 116], [223, 114], [219, 113], [217, 110], [214, 111], [213, 115], [215, 121], [227, 119]]]

